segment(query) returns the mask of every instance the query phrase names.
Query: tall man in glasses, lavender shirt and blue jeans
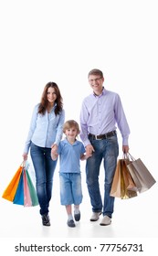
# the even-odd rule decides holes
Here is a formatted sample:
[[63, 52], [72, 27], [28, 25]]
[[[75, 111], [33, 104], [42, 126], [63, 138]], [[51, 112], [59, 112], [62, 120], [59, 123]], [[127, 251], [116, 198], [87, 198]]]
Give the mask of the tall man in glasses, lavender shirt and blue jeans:
[[[93, 93], [86, 97], [80, 111], [80, 138], [87, 154], [92, 154], [86, 163], [87, 186], [92, 206], [90, 221], [96, 221], [102, 213], [101, 226], [111, 224], [114, 197], [110, 196], [112, 179], [119, 155], [116, 129], [122, 136], [122, 151], [129, 151], [130, 128], [127, 123], [120, 96], [103, 87], [104, 77], [100, 69], [92, 69], [88, 75]], [[116, 126], [117, 125], [117, 126]], [[100, 195], [100, 164], [105, 171], [104, 196]]]

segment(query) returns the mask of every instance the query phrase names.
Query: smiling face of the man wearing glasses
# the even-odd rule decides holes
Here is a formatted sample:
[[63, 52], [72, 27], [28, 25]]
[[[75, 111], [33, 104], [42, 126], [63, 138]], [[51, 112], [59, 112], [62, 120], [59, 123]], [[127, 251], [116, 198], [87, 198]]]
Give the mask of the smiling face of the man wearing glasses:
[[100, 75], [90, 75], [89, 83], [96, 95], [100, 95], [102, 92], [104, 78], [100, 77]]

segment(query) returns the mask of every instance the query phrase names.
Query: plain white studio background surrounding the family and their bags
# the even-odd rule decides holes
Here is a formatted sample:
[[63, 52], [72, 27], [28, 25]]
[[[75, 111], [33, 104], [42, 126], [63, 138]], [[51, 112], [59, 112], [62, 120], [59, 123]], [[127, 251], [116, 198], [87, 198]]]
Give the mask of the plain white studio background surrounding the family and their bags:
[[[87, 75], [94, 68], [103, 71], [105, 88], [121, 96], [131, 128], [131, 154], [141, 157], [158, 179], [156, 2], [0, 2], [1, 195], [22, 162], [33, 107], [40, 101], [46, 83], [58, 83], [66, 119], [79, 121], [81, 101], [91, 92]], [[121, 157], [120, 134], [119, 142]], [[1, 198], [0, 237], [85, 237], [88, 241], [90, 237], [158, 237], [157, 184], [132, 200], [116, 199], [111, 228], [99, 229], [99, 223], [90, 226], [84, 166], [82, 163], [84, 200], [79, 227], [69, 230], [66, 226], [66, 212], [59, 204], [57, 168], [51, 228], [41, 228], [38, 207], [21, 208]]]

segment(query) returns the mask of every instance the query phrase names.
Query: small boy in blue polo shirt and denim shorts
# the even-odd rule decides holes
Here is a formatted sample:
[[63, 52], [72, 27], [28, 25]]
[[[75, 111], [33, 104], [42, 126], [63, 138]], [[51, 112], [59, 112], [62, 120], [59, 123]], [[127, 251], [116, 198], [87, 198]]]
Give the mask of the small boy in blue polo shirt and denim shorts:
[[[51, 157], [60, 159], [60, 201], [65, 205], [68, 214], [68, 227], [75, 227], [75, 222], [80, 219], [79, 204], [82, 201], [81, 176], [79, 160], [85, 160], [90, 155], [85, 155], [84, 145], [77, 140], [79, 124], [74, 120], [64, 123], [63, 133], [66, 138], [58, 144], [58, 151], [51, 150]], [[72, 204], [74, 204], [74, 219], [72, 216]]]

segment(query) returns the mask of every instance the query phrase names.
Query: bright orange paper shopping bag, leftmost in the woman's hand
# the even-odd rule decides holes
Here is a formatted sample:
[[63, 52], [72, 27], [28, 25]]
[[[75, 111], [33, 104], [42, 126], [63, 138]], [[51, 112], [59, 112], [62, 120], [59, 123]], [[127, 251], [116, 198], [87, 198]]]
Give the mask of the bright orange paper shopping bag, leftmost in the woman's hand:
[[20, 165], [18, 167], [15, 176], [13, 176], [8, 186], [5, 188], [2, 197], [5, 198], [6, 200], [13, 202], [14, 197], [16, 195], [16, 189], [18, 187], [19, 179], [23, 171], [23, 167], [23, 165]]

